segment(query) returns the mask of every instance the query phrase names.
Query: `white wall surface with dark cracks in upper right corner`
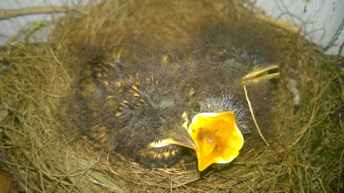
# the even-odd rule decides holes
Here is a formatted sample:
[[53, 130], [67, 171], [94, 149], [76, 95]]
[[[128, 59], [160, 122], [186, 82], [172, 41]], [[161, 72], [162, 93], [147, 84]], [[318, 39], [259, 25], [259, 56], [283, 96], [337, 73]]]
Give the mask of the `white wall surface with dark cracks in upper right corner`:
[[[305, 37], [326, 53], [344, 41], [344, 0], [251, 0], [266, 15], [301, 25]], [[269, 2], [269, 3], [268, 3]], [[344, 55], [344, 52], [341, 53]]]

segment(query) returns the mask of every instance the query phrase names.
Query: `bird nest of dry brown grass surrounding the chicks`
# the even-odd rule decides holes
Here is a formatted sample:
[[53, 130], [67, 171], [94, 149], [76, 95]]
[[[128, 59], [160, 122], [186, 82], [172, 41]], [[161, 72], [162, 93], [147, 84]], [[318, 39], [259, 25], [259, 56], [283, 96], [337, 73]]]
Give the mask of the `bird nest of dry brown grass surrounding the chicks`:
[[[65, 96], [94, 52], [143, 33], [165, 45], [187, 45], [210, 17], [238, 32], [254, 28], [256, 37], [273, 39], [288, 67], [282, 71], [277, 127], [269, 137], [261, 135], [258, 148], [224, 169], [199, 172], [195, 161], [145, 169], [94, 148], [69, 121]], [[47, 43], [29, 43], [36, 29], [47, 27], [37, 24], [24, 41], [1, 48], [1, 167], [24, 190], [343, 191], [343, 59], [325, 56], [297, 34], [297, 27], [268, 19], [240, 0], [103, 1], [66, 9], [66, 16], [50, 26], [54, 30]], [[293, 92], [301, 96], [299, 105], [293, 89], [283, 84], [288, 78], [298, 82]]]

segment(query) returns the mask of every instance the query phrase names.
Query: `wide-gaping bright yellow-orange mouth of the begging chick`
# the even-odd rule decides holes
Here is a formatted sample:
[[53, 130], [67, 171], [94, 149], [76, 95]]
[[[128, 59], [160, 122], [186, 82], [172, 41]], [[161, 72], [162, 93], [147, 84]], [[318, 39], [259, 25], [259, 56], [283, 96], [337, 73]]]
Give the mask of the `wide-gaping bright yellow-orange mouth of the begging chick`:
[[199, 171], [211, 164], [231, 162], [244, 144], [233, 111], [196, 114], [188, 131], [197, 145]]

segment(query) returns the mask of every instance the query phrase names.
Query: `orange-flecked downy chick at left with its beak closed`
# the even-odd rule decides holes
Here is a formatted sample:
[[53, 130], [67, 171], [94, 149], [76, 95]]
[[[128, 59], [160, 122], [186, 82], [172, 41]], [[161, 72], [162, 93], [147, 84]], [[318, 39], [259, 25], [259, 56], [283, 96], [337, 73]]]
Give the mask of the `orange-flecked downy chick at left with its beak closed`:
[[146, 168], [173, 166], [183, 147], [197, 149], [183, 117], [192, 72], [183, 58], [162, 50], [106, 51], [86, 66], [72, 92], [73, 121], [95, 146]]

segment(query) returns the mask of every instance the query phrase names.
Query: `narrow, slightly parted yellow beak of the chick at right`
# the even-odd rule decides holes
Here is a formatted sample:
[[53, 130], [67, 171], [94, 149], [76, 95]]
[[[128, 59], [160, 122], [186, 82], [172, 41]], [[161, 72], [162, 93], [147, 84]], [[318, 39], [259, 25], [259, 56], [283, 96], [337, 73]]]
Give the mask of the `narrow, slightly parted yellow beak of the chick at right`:
[[276, 64], [259, 65], [259, 68], [247, 74], [242, 81], [244, 85], [246, 85], [249, 83], [259, 83], [274, 79], [280, 75], [280, 72], [277, 72], [277, 68], [278, 65]]

